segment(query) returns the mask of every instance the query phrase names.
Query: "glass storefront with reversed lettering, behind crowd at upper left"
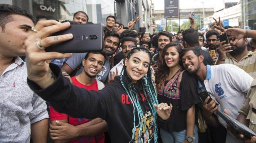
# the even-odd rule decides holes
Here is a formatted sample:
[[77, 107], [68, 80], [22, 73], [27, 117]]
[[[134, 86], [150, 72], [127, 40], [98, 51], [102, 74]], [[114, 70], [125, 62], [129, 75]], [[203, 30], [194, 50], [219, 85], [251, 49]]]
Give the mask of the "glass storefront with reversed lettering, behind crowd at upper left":
[[3, 0], [0, 3], [18, 6], [34, 16], [47, 19], [72, 20], [77, 11], [88, 14], [89, 22], [106, 24], [109, 15], [115, 15], [114, 0]]

